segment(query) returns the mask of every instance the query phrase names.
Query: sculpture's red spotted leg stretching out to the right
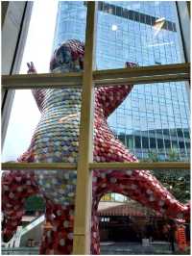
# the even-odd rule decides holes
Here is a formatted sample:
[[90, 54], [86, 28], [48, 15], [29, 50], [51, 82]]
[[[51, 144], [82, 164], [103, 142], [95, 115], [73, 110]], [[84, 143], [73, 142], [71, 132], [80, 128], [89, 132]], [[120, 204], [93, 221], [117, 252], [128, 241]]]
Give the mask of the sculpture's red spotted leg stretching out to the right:
[[[108, 130], [105, 135], [102, 129]], [[138, 162], [129, 150], [110, 133], [107, 124], [100, 126], [95, 138], [96, 162]], [[105, 147], [104, 147], [105, 143]], [[105, 189], [131, 197], [133, 200], [171, 218], [189, 218], [189, 206], [180, 203], [149, 170], [97, 170], [97, 194]]]

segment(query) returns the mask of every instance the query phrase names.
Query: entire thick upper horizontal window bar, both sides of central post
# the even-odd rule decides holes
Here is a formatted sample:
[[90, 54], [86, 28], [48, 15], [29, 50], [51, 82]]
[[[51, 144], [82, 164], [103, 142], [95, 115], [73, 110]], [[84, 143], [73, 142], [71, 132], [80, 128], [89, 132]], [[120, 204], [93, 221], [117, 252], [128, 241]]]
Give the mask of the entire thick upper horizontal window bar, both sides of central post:
[[[93, 71], [95, 86], [119, 84], [150, 84], [189, 80], [190, 64], [162, 64], [134, 66]], [[2, 85], [6, 90], [82, 88], [83, 72], [3, 75]]]

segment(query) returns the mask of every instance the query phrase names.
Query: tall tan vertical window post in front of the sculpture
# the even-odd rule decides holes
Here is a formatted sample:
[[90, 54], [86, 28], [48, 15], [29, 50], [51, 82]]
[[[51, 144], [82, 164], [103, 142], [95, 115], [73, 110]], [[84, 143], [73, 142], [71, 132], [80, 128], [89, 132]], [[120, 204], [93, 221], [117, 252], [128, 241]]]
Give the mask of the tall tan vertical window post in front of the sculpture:
[[95, 30], [97, 2], [87, 2], [82, 110], [79, 138], [79, 161], [75, 200], [73, 254], [89, 254], [93, 158], [93, 67], [95, 63]]

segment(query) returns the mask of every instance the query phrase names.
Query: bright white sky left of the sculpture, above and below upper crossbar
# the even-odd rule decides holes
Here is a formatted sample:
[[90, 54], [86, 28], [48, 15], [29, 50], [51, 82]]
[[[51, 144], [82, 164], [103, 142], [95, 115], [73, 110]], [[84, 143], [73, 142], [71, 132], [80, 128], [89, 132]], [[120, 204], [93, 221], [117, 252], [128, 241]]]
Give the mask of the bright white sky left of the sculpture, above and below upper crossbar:
[[[38, 73], [49, 72], [58, 1], [35, 1], [20, 73], [27, 73], [27, 63], [34, 62]], [[24, 153], [40, 118], [31, 90], [16, 90], [2, 161], [15, 161]]]

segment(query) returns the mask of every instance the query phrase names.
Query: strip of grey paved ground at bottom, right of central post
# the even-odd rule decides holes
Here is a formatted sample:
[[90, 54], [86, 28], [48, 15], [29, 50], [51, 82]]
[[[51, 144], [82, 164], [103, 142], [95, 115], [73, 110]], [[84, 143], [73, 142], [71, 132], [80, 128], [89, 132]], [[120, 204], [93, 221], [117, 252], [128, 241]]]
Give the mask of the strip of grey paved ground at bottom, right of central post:
[[[121, 254], [121, 255], [156, 255], [156, 254], [173, 254], [169, 243], [151, 243], [143, 246], [141, 243], [101, 243], [101, 254]], [[174, 253], [175, 254], [175, 253]]]

